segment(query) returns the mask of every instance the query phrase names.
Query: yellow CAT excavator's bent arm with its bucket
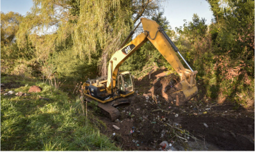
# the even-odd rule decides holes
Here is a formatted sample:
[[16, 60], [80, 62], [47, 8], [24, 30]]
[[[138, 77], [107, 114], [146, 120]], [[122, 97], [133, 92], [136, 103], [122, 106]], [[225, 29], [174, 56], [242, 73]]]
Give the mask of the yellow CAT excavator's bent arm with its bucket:
[[[180, 55], [178, 48], [172, 43], [171, 39], [168, 38], [156, 21], [141, 18], [141, 23], [144, 31], [122, 49], [115, 52], [110, 59], [107, 81], [108, 92], [110, 93], [112, 91], [111, 93], [113, 93], [113, 88], [116, 86], [118, 69], [122, 63], [149, 40], [180, 76], [180, 82], [172, 88], [172, 99], [178, 98], [177, 100], [179, 102], [186, 102], [194, 97], [198, 92], [195, 79], [197, 71], [193, 71], [189, 67], [186, 60]], [[182, 57], [189, 69], [184, 68], [175, 52]]]

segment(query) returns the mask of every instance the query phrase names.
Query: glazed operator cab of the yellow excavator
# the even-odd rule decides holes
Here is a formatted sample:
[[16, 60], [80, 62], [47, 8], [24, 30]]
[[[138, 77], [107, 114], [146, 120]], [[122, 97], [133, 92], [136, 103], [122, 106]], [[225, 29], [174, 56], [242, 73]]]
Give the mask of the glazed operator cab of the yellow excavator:
[[118, 90], [126, 95], [134, 91], [134, 81], [129, 71], [121, 72], [118, 76]]

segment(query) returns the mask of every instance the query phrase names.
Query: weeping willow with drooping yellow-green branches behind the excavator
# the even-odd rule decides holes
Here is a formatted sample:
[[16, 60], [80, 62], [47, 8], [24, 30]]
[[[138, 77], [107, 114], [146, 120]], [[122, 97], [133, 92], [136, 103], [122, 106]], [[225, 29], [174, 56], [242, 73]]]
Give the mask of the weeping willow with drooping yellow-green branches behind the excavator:
[[24, 38], [27, 37], [35, 46], [36, 59], [43, 62], [56, 50], [67, 50], [67, 46], [89, 64], [93, 62], [92, 55], [100, 52], [102, 57], [97, 62], [104, 75], [109, 57], [129, 34], [136, 20], [159, 10], [158, 2], [33, 0], [31, 13], [26, 15], [17, 34], [18, 46], [20, 49], [26, 46]]

